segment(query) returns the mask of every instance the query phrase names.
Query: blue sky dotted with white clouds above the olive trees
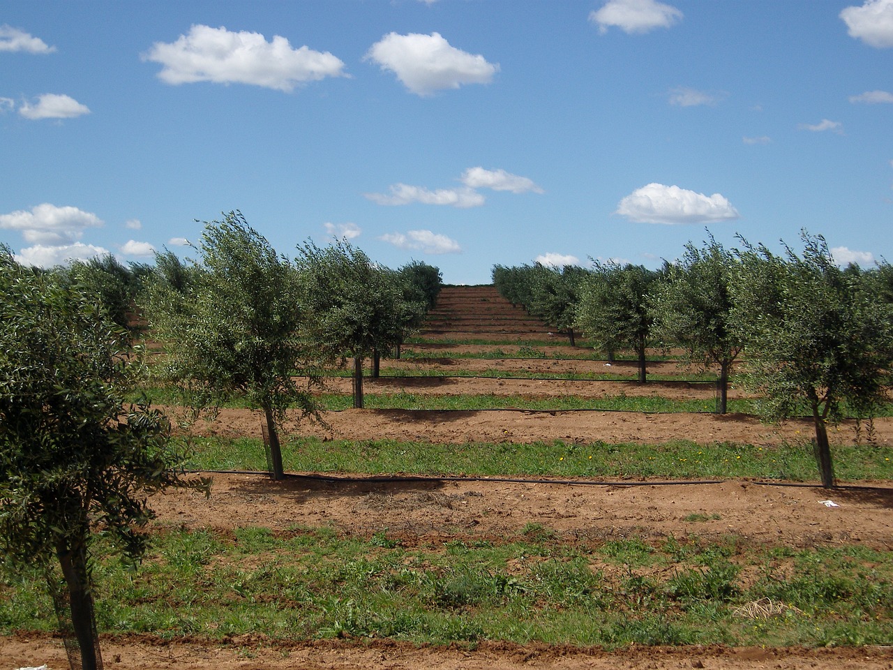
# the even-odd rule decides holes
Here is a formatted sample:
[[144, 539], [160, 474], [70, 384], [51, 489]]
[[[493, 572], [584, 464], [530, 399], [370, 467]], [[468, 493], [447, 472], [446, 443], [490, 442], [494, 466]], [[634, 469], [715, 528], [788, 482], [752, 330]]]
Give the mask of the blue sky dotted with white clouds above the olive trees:
[[194, 255], [234, 209], [448, 283], [707, 230], [891, 260], [893, 0], [4, 2], [22, 262]]

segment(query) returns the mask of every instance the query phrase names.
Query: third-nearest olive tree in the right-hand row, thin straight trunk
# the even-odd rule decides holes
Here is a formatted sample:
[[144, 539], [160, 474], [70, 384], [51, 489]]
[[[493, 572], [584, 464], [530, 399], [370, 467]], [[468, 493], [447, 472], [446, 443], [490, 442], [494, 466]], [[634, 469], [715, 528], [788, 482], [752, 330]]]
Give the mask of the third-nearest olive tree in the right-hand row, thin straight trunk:
[[580, 331], [611, 352], [632, 348], [638, 357], [638, 381], [644, 384], [647, 368], [645, 347], [651, 331], [647, 309], [648, 291], [658, 272], [641, 265], [603, 264], [580, 285], [576, 324]]

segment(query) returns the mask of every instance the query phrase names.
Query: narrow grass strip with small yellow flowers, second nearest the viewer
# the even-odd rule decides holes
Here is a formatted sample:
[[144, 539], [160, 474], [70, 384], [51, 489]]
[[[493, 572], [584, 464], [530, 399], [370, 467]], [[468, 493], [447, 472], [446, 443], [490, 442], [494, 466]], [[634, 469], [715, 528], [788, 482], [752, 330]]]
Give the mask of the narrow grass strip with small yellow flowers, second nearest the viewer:
[[[563, 479], [659, 480], [755, 478], [815, 482], [809, 444], [774, 447], [688, 440], [665, 444], [586, 444], [563, 440], [436, 444], [399, 440], [321, 440], [301, 438], [283, 447], [287, 471], [448, 476], [557, 477]], [[266, 470], [258, 439], [193, 438], [188, 467], [199, 470]], [[893, 448], [872, 445], [832, 447], [841, 483], [893, 480]]]

